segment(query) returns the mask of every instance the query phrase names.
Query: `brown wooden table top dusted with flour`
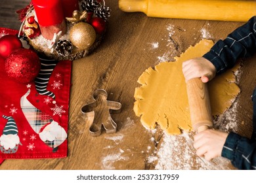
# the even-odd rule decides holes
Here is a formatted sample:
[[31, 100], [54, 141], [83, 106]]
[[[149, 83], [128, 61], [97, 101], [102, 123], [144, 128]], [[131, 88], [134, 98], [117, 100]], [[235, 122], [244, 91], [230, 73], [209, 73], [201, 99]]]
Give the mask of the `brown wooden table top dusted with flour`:
[[[1, 1], [0, 25], [18, 29], [15, 10], [25, 7], [29, 0]], [[190, 158], [172, 161], [173, 166], [158, 166], [158, 150], [166, 140], [160, 129], [145, 129], [140, 118], [133, 112], [137, 79], [148, 67], [154, 67], [160, 61], [173, 60], [188, 46], [203, 38], [224, 39], [228, 33], [244, 22], [218, 22], [206, 20], [175, 20], [166, 18], [148, 18], [142, 13], [125, 13], [119, 10], [116, 1], [107, 1], [112, 9], [108, 32], [102, 44], [95, 52], [73, 62], [72, 88], [69, 109], [68, 157], [60, 159], [8, 159], [0, 169], [204, 169], [196, 163], [194, 150]], [[15, 6], [13, 6], [15, 5]], [[8, 21], [7, 21], [8, 19]], [[253, 58], [243, 61], [239, 86], [238, 112], [234, 121], [237, 132], [242, 135], [251, 133], [252, 103], [251, 92], [256, 86], [256, 65]], [[108, 99], [122, 104], [122, 111], [113, 114], [117, 123], [117, 133], [102, 133], [100, 137], [91, 137], [89, 126], [91, 119], [84, 118], [81, 107], [93, 100], [93, 92], [102, 88], [108, 92]], [[227, 119], [228, 120], [228, 119]], [[178, 143], [184, 138], [175, 137]], [[181, 139], [181, 140], [179, 140]], [[183, 140], [182, 140], [183, 139]], [[190, 137], [192, 141], [192, 137]], [[177, 146], [176, 146], [177, 147]], [[165, 146], [165, 150], [168, 150]], [[171, 148], [171, 147], [170, 147]], [[178, 146], [179, 148], [179, 146]], [[184, 148], [184, 147], [183, 147]], [[179, 159], [182, 148], [173, 154]], [[165, 156], [164, 154], [162, 156]], [[175, 157], [177, 156], [177, 157]], [[163, 157], [162, 157], [163, 158]], [[188, 157], [189, 158], [189, 157]], [[182, 159], [180, 159], [182, 160]], [[186, 161], [195, 161], [189, 163]], [[221, 160], [221, 163], [223, 160]], [[168, 163], [168, 162], [166, 162]], [[181, 165], [181, 163], [189, 165]], [[175, 165], [176, 164], [176, 165]], [[221, 167], [207, 169], [234, 169], [230, 163]]]

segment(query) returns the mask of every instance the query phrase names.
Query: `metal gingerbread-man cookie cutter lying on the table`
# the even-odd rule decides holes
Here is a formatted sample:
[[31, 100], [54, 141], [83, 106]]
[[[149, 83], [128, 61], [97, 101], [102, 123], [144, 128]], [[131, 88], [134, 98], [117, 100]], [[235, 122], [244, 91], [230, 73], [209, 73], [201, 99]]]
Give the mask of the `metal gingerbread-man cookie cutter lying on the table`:
[[[93, 124], [90, 127], [90, 133], [93, 137], [101, 134], [102, 125], [106, 133], [116, 133], [116, 123], [110, 116], [110, 112], [120, 112], [121, 103], [107, 101], [108, 93], [105, 90], [98, 89], [93, 93], [95, 101], [84, 105], [81, 112], [86, 117], [94, 116]], [[93, 114], [94, 112], [94, 114]]]

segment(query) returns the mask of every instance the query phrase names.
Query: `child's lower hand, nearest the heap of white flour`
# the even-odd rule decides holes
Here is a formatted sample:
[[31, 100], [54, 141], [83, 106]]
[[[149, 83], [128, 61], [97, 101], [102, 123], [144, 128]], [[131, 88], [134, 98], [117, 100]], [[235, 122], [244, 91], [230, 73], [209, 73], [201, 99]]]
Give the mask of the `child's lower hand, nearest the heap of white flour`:
[[204, 156], [208, 161], [221, 156], [226, 137], [228, 137], [228, 133], [214, 129], [207, 129], [196, 134], [194, 136], [196, 154]]

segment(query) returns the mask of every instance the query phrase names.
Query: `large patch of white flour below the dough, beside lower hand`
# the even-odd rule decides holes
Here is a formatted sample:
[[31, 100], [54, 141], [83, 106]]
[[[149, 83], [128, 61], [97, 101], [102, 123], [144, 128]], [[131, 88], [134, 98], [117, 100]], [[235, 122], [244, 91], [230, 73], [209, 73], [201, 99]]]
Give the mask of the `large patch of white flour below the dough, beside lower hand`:
[[156, 156], [150, 156], [148, 162], [157, 161], [157, 170], [226, 169], [229, 161], [216, 158], [206, 161], [195, 157], [192, 133], [182, 135], [163, 135], [163, 142]]

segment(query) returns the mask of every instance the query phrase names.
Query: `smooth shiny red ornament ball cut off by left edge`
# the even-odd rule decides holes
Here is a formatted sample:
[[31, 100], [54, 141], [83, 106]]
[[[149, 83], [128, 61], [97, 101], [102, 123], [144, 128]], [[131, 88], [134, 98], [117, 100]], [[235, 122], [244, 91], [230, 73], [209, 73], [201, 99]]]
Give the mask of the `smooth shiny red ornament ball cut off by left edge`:
[[7, 58], [13, 50], [22, 48], [22, 42], [15, 35], [4, 35], [0, 38], [0, 56]]

